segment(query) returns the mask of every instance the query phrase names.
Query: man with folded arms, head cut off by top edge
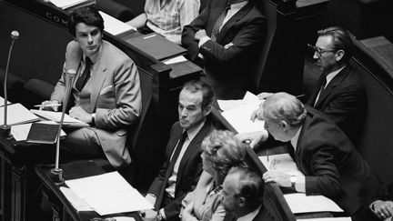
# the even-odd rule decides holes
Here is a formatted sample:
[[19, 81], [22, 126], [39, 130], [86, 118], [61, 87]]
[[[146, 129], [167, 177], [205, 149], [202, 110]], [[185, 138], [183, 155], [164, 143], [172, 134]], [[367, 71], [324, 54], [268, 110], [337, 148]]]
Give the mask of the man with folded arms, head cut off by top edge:
[[191, 60], [203, 57], [207, 83], [214, 88], [217, 99], [238, 99], [243, 98], [250, 84], [265, 30], [265, 16], [253, 0], [210, 1], [184, 27], [182, 45]]

